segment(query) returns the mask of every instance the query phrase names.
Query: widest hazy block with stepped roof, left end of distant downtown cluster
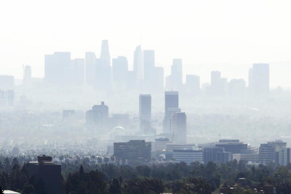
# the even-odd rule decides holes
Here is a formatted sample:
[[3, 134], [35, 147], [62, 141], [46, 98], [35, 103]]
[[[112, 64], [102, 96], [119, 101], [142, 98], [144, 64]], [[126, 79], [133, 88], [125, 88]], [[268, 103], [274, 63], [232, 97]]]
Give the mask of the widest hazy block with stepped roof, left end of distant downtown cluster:
[[45, 81], [54, 85], [65, 83], [65, 68], [71, 66], [71, 52], [54, 52], [45, 55]]

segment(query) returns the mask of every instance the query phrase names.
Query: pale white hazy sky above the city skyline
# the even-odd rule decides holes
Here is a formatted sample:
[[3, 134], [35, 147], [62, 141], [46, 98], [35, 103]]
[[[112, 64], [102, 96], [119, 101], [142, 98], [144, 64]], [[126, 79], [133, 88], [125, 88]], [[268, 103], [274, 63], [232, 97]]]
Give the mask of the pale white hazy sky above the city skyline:
[[[244, 78], [252, 63], [269, 62], [270, 86], [290, 87], [291, 1], [2, 1], [0, 74], [44, 76], [44, 54], [100, 54], [109, 40], [111, 58], [154, 49], [156, 66], [170, 73], [173, 58], [186, 74], [210, 82], [210, 71], [228, 80]], [[273, 62], [286, 62], [275, 64]], [[286, 69], [287, 68], [287, 69]]]

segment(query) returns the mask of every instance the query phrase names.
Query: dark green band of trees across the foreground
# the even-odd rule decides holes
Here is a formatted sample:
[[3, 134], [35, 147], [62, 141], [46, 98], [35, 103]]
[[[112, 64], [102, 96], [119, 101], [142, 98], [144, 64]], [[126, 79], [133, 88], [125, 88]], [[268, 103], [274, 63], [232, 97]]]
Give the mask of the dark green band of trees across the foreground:
[[[27, 163], [19, 165], [18, 158], [1, 161], [0, 186], [22, 194], [44, 194], [41, 179], [28, 177]], [[236, 160], [222, 165], [213, 162], [187, 165], [185, 162], [153, 164], [151, 166], [92, 164], [85, 161], [62, 162], [62, 194], [206, 194], [219, 188], [235, 187], [227, 193], [252, 193], [253, 188], [274, 185], [277, 193], [291, 193], [291, 166], [274, 163], [247, 165]], [[239, 178], [246, 178], [249, 189], [236, 186]]]

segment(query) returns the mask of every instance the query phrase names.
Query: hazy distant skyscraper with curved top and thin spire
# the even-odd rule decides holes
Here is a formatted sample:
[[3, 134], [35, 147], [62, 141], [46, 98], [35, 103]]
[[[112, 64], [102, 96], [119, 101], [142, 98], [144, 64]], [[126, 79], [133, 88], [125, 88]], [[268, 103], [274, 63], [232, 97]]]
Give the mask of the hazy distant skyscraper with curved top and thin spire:
[[143, 83], [143, 51], [141, 45], [137, 46], [133, 56], [133, 71], [136, 74], [136, 82], [138, 85]]

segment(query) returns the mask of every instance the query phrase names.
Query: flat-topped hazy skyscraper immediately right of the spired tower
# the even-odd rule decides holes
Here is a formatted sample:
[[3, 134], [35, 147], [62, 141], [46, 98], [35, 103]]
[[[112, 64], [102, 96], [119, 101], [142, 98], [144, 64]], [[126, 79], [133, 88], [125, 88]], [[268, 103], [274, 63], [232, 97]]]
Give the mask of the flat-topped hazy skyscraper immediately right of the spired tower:
[[147, 87], [151, 84], [152, 71], [155, 67], [155, 51], [154, 50], [144, 50], [143, 51], [143, 74], [144, 80]]

